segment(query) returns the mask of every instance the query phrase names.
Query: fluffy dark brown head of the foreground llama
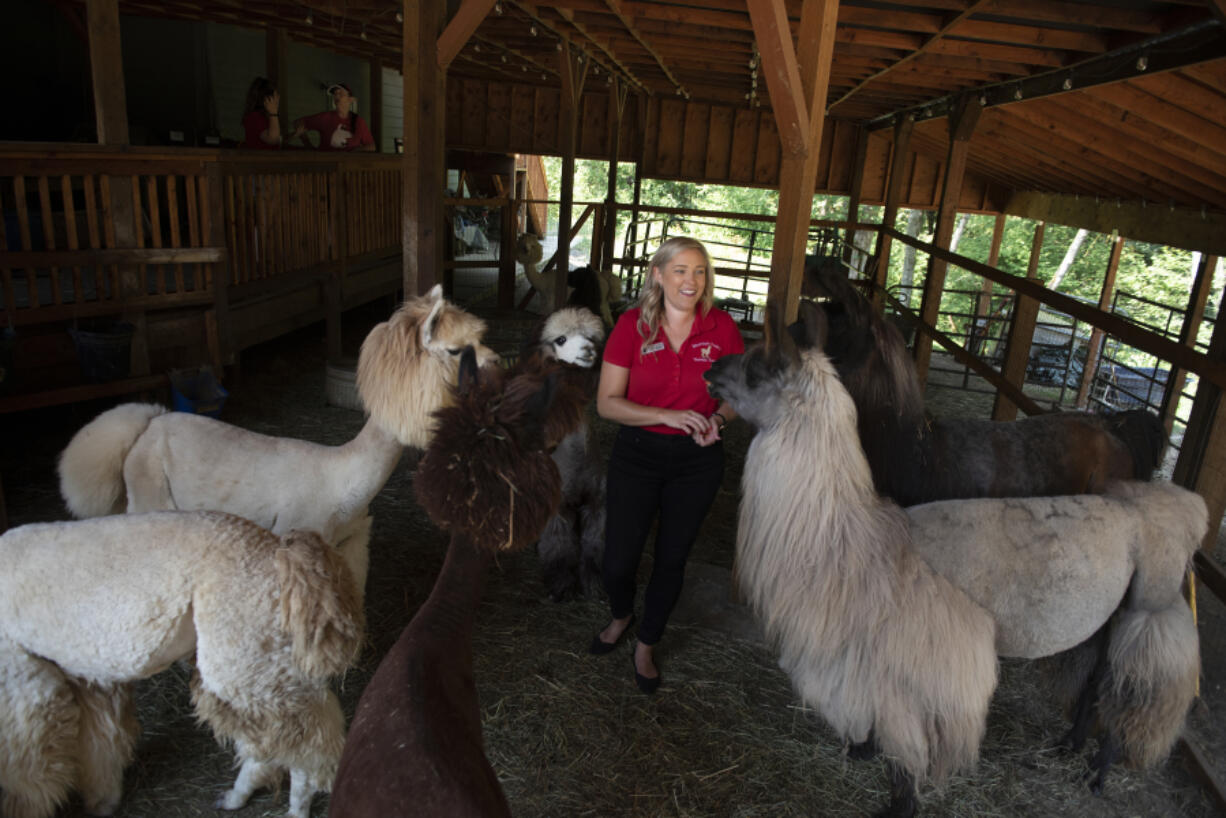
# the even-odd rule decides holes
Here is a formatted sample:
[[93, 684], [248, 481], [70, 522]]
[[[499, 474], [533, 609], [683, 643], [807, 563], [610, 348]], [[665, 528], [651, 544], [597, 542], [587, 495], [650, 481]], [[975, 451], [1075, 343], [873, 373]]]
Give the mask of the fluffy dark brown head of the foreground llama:
[[555, 374], [478, 370], [465, 353], [456, 402], [439, 410], [436, 433], [417, 467], [417, 499], [441, 529], [479, 548], [535, 542], [562, 502], [549, 456]]

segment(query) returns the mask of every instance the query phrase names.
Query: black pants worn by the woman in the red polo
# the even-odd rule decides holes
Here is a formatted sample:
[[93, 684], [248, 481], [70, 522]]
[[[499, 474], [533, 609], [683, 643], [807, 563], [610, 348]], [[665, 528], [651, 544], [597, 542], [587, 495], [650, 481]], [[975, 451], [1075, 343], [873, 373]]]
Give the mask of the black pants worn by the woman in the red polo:
[[700, 446], [688, 434], [622, 427], [609, 455], [604, 527], [604, 590], [613, 618], [634, 611], [635, 575], [651, 522], [660, 514], [656, 552], [639, 640], [664, 633], [685, 579], [685, 559], [723, 480], [723, 444]]

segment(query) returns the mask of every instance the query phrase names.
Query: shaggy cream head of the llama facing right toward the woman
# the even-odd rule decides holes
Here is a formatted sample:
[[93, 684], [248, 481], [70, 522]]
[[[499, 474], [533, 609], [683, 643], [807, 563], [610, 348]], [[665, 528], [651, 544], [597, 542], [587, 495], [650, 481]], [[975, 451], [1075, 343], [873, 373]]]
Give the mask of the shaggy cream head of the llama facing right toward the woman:
[[482, 345], [485, 323], [443, 298], [443, 287], [406, 300], [362, 342], [358, 395], [367, 412], [406, 446], [424, 449], [432, 413], [454, 399], [460, 353], [498, 359]]

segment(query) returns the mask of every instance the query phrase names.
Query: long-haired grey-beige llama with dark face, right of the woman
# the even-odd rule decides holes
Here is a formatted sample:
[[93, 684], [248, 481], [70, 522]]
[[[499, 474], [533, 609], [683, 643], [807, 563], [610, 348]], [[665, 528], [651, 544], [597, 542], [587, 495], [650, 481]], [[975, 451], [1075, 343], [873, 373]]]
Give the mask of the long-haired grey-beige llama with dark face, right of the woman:
[[[801, 350], [769, 312], [765, 345], [706, 374], [758, 427], [739, 580], [802, 699], [886, 753], [889, 811], [913, 813], [920, 784], [976, 760], [997, 654], [1057, 654], [1113, 616], [1097, 690], [1105, 749], [1138, 765], [1165, 757], [1199, 673], [1181, 585], [1208, 530], [1204, 502], [1121, 482], [904, 511], [873, 489], [856, 406], [821, 351], [823, 314], [803, 310]], [[1100, 776], [1112, 760], [1094, 759]]]

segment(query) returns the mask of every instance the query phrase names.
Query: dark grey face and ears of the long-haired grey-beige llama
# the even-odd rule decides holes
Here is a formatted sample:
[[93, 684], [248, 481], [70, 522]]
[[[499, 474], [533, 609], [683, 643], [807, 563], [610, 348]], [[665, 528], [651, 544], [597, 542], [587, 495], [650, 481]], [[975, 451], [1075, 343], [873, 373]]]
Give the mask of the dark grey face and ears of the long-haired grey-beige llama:
[[[732, 403], [737, 415], [758, 428], [771, 427], [792, 412], [792, 395], [807, 381], [803, 373], [810, 353], [823, 362], [819, 370], [830, 370], [821, 353], [825, 315], [812, 302], [801, 302], [801, 320], [794, 330], [786, 329], [779, 307], [769, 304], [764, 330], [761, 343], [720, 358], [704, 375], [712, 395]], [[832, 377], [832, 370], [829, 374]]]

